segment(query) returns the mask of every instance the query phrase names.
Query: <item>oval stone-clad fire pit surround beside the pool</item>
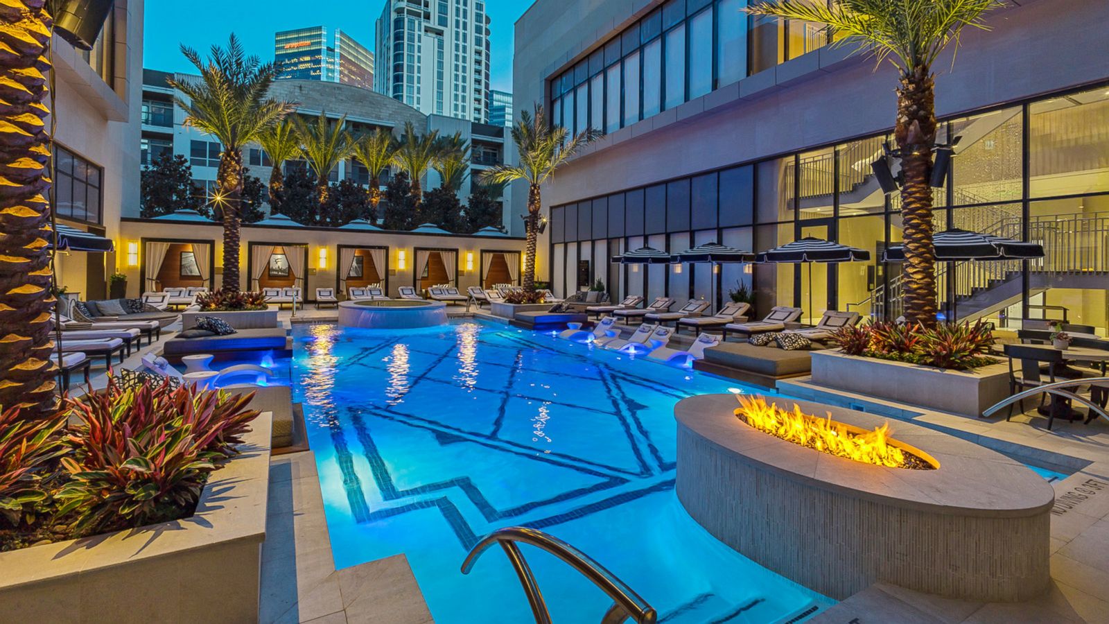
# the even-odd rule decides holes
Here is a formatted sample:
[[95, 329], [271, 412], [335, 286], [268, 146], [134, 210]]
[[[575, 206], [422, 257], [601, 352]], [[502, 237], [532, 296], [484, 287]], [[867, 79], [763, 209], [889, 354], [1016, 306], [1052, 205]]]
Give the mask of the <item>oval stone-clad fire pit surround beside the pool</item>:
[[[769, 400], [868, 430], [886, 422]], [[1018, 462], [894, 421], [893, 437], [939, 467], [864, 464], [756, 431], [735, 407], [731, 394], [674, 407], [676, 490], [694, 520], [749, 558], [836, 600], [877, 581], [978, 601], [1025, 601], [1047, 590], [1055, 491]]]

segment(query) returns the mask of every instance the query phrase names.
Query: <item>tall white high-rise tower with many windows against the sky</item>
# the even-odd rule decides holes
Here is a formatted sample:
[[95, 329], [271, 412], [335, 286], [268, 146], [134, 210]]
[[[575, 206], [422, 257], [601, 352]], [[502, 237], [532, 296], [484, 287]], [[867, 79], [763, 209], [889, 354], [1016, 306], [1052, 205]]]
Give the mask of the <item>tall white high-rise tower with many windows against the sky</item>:
[[489, 120], [489, 17], [482, 0], [386, 0], [375, 90], [424, 114]]

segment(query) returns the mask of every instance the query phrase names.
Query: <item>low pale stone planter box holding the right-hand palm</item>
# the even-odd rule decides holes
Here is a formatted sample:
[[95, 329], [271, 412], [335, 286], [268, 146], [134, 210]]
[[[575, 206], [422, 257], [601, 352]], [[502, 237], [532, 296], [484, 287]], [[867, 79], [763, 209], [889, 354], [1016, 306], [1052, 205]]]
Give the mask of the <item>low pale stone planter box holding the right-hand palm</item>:
[[978, 417], [1009, 395], [1009, 369], [945, 371], [838, 351], [813, 352], [813, 383], [876, 399]]

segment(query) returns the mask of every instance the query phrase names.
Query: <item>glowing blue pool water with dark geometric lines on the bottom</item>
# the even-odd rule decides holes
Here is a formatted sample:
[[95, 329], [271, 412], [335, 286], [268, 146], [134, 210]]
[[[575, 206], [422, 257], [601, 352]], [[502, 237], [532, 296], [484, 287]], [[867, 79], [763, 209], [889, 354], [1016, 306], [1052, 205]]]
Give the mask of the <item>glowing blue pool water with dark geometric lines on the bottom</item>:
[[[581, 548], [660, 622], [798, 622], [832, 602], [718, 542], [674, 495], [674, 403], [734, 381], [477, 322], [294, 338], [336, 566], [404, 553], [440, 624], [531, 621], [499, 548], [459, 572], [509, 525]], [[600, 591], [522, 550], [556, 622], [600, 620]]]

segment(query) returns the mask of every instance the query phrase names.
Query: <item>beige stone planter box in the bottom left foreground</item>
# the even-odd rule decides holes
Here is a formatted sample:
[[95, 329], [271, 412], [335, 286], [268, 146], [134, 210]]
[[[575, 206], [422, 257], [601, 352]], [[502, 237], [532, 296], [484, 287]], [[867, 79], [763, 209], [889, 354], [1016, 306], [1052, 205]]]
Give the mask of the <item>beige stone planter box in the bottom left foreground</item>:
[[174, 522], [0, 553], [11, 622], [257, 622], [271, 413]]

